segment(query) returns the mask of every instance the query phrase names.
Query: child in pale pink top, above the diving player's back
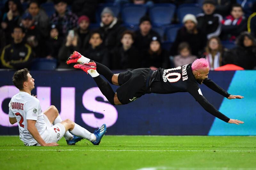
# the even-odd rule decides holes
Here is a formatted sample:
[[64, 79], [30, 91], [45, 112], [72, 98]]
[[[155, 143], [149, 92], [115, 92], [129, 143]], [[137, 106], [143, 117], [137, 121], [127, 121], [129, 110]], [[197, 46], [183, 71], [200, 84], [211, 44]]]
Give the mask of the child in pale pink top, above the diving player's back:
[[191, 48], [187, 42], [181, 42], [179, 45], [179, 55], [174, 56], [173, 63], [175, 67], [193, 63], [197, 57], [191, 55]]

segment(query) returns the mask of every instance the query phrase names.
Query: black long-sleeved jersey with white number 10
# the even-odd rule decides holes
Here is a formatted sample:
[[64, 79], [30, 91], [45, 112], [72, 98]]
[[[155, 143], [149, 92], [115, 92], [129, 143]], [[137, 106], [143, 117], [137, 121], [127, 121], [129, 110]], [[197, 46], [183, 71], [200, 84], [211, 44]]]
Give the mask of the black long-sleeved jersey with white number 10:
[[[228, 122], [229, 118], [220, 113], [203, 96], [199, 85], [196, 82], [196, 78], [193, 75], [191, 65], [192, 64], [187, 64], [172, 69], [159, 68], [154, 71], [149, 82], [150, 92], [161, 94], [189, 92], [206, 111], [215, 117]], [[204, 79], [203, 83], [226, 98], [230, 95], [209, 78]]]

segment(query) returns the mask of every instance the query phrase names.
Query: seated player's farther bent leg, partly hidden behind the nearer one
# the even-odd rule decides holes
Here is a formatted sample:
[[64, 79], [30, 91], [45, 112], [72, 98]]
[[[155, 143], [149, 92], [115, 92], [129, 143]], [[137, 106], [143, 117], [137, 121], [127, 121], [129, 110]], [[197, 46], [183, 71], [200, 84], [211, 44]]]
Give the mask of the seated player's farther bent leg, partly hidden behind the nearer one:
[[[53, 125], [62, 122], [59, 111], [55, 106], [50, 106], [47, 108], [44, 111], [44, 115], [46, 115], [49, 122]], [[72, 135], [69, 131], [65, 133], [64, 138], [66, 139], [68, 145], [76, 144], [76, 142], [82, 140], [82, 138]]]

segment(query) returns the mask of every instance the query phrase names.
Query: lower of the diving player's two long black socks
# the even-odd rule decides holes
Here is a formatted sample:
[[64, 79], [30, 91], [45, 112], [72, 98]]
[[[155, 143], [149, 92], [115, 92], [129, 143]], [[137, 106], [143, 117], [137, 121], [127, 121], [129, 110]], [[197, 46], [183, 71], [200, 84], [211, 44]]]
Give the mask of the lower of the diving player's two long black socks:
[[98, 85], [100, 91], [102, 94], [108, 99], [108, 101], [112, 104], [115, 105], [114, 103], [114, 96], [115, 93], [111, 86], [108, 84], [107, 81], [105, 81], [100, 75], [97, 77], [93, 78], [96, 84]]

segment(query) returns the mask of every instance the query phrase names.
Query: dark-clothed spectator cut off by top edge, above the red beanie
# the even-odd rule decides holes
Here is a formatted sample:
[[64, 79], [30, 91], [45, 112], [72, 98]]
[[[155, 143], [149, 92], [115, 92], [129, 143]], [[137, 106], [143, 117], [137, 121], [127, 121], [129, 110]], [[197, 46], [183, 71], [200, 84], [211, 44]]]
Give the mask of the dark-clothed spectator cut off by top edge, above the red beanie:
[[75, 0], [72, 4], [72, 11], [77, 16], [86, 15], [92, 23], [95, 22], [95, 13], [100, 0]]

